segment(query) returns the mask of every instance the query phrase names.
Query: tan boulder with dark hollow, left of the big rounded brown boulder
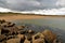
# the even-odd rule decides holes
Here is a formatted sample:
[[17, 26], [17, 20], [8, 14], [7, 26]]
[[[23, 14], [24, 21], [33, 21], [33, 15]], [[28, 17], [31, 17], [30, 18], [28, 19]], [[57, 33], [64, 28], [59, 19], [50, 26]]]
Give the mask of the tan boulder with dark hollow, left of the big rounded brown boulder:
[[44, 43], [44, 35], [40, 32], [32, 35], [32, 43]]

